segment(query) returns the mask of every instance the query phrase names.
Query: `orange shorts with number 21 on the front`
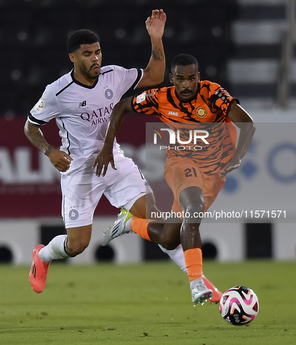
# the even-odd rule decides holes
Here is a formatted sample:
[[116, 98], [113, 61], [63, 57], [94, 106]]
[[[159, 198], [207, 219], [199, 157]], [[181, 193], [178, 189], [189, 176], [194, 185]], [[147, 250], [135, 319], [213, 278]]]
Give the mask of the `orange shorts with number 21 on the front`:
[[173, 212], [182, 212], [179, 195], [188, 187], [199, 187], [202, 190], [205, 209], [207, 211], [225, 185], [225, 178], [219, 174], [207, 175], [202, 172], [197, 163], [188, 157], [167, 157], [164, 167], [164, 177], [174, 194]]

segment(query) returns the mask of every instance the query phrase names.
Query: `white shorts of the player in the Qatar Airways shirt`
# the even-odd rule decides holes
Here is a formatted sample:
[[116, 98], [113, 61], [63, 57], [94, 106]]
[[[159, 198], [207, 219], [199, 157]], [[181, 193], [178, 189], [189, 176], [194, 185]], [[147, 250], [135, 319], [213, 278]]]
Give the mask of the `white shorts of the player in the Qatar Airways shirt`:
[[62, 175], [62, 216], [66, 229], [92, 224], [103, 193], [111, 205], [127, 210], [140, 197], [153, 193], [138, 166], [122, 151], [114, 152], [114, 162], [117, 170], [109, 164], [105, 177], [98, 178], [96, 168], [92, 169], [91, 165], [82, 171]]

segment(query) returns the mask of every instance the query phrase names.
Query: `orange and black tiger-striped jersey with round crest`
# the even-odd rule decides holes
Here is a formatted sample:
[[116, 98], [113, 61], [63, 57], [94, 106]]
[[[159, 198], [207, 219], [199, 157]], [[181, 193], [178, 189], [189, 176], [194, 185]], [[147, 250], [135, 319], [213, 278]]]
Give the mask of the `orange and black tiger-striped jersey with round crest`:
[[[193, 158], [203, 172], [216, 174], [229, 163], [235, 150], [236, 129], [227, 117], [233, 102], [238, 103], [238, 100], [219, 84], [204, 80], [199, 82], [196, 98], [188, 103], [178, 99], [172, 86], [144, 91], [132, 98], [131, 106], [135, 112], [156, 115], [168, 122], [167, 126], [175, 132], [179, 129], [183, 133], [180, 135], [182, 141], [188, 140], [194, 123], [198, 123], [199, 130], [210, 131], [206, 138], [209, 144], [202, 150], [192, 151], [190, 146], [185, 146], [182, 150], [168, 149], [167, 155]], [[180, 124], [184, 122], [188, 123], [187, 128]]]

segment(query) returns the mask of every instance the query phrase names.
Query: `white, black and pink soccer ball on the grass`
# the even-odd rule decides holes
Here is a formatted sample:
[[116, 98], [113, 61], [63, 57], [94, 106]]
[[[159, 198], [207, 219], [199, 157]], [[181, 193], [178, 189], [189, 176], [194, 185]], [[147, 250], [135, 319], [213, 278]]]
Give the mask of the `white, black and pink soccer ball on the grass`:
[[242, 326], [256, 317], [259, 310], [258, 297], [247, 287], [233, 286], [223, 293], [219, 309], [224, 320]]

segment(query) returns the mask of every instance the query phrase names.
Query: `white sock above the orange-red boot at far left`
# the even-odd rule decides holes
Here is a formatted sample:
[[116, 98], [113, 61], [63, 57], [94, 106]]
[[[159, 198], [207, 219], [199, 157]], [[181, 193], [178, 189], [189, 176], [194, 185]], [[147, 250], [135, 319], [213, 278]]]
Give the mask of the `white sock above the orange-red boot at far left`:
[[51, 262], [55, 259], [68, 259], [70, 255], [66, 251], [67, 235], [54, 237], [51, 242], [40, 249], [38, 256], [44, 262]]

